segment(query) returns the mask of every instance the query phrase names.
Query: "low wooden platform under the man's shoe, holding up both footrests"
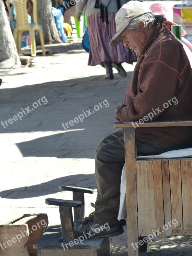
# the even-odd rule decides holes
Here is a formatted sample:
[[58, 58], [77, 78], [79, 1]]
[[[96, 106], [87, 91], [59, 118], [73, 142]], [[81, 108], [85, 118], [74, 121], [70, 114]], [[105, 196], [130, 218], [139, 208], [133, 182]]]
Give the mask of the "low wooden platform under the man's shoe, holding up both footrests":
[[[50, 226], [34, 244], [37, 256], [109, 256], [112, 250], [111, 238], [94, 238], [79, 241], [59, 242], [61, 225]], [[81, 238], [83, 240], [83, 236]], [[73, 250], [72, 250], [73, 249]]]

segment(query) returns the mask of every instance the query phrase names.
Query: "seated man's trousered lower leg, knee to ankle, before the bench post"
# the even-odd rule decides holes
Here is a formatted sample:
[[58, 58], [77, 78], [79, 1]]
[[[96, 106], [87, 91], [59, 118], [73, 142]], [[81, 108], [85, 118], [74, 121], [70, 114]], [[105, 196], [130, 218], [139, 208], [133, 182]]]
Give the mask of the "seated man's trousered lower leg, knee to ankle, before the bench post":
[[95, 177], [98, 194], [93, 215], [99, 224], [119, 224], [118, 201], [124, 164], [124, 137], [122, 132], [118, 131], [101, 140], [96, 148]]

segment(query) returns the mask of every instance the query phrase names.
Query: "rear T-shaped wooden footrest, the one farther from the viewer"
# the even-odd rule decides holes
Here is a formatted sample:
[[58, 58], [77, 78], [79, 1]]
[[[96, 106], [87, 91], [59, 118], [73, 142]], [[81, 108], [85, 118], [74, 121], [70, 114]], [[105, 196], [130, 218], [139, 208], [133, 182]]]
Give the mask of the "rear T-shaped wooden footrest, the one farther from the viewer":
[[82, 220], [84, 218], [84, 193], [93, 194], [93, 189], [79, 188], [73, 186], [59, 186], [59, 189], [72, 191], [73, 192], [73, 200], [81, 201], [81, 207], [74, 209], [74, 221]]

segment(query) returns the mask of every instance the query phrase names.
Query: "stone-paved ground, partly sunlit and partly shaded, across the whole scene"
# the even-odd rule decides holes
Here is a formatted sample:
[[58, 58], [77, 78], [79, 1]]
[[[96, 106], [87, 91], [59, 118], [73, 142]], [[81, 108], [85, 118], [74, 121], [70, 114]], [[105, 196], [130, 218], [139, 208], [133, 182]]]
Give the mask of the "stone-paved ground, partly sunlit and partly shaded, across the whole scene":
[[[95, 148], [99, 140], [116, 131], [114, 111], [123, 101], [134, 64], [123, 64], [126, 79], [115, 73], [112, 81], [105, 81], [105, 70], [87, 66], [88, 54], [73, 37], [73, 44], [46, 46], [52, 55], [35, 57], [31, 67], [0, 70], [0, 122], [5, 127], [0, 125], [1, 223], [23, 213], [44, 212], [49, 224], [58, 224], [58, 208], [44, 201], [72, 198], [70, 192], [59, 191], [60, 184], [95, 189], [85, 199], [86, 214], [93, 211]], [[89, 109], [92, 114], [82, 122], [70, 122]], [[14, 117], [7, 126], [6, 120], [17, 113], [21, 120]], [[61, 124], [67, 122], [71, 126], [65, 125], [65, 130]], [[190, 236], [157, 238], [149, 244], [148, 253], [141, 255], [189, 256], [191, 242]], [[126, 244], [125, 227], [113, 239], [113, 255], [126, 256]]]

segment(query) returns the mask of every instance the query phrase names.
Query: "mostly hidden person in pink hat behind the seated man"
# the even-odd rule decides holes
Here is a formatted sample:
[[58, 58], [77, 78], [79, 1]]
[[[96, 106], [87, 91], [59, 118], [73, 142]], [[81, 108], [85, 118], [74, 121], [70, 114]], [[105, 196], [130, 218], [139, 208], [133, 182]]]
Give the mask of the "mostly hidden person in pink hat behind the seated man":
[[[149, 9], [153, 14], [156, 15], [163, 15], [166, 17], [166, 26], [169, 30], [171, 30], [171, 25], [177, 25], [173, 22], [173, 9], [169, 6], [166, 6], [161, 3], [154, 3], [152, 4]], [[181, 28], [181, 34], [182, 34], [182, 44], [183, 48], [186, 52], [187, 57], [189, 58], [191, 67], [192, 67], [192, 44], [183, 36], [186, 35], [186, 31]]]

